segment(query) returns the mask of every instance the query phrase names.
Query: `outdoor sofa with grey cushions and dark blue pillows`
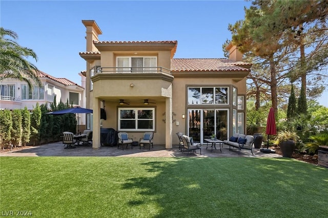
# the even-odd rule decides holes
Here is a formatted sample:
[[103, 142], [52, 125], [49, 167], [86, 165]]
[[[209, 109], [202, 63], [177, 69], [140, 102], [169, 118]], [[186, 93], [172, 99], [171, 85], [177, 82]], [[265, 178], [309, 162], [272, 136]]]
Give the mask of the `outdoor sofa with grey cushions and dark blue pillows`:
[[238, 148], [238, 155], [241, 149], [251, 150], [252, 155], [254, 155], [254, 136], [235, 133], [228, 140], [223, 140], [223, 143], [229, 145], [229, 150], [231, 147]]

